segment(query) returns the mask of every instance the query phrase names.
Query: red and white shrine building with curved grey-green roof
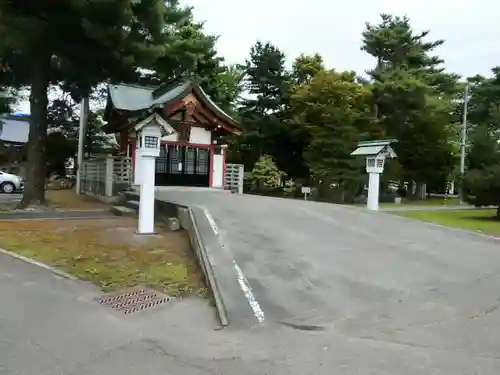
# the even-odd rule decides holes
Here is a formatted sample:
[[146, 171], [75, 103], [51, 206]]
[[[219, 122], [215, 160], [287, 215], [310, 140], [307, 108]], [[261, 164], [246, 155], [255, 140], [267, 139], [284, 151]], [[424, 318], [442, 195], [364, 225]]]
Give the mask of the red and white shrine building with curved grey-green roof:
[[153, 119], [163, 130], [155, 185], [223, 188], [227, 149], [221, 139], [241, 127], [189, 79], [160, 87], [109, 85], [104, 129], [132, 158], [134, 183], [140, 182], [135, 129]]

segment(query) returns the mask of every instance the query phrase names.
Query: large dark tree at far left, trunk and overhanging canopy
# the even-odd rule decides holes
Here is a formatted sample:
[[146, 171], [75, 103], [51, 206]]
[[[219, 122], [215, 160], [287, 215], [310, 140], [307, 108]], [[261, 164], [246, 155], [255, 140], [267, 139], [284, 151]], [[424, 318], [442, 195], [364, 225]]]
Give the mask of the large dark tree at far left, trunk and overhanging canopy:
[[139, 57], [161, 54], [155, 40], [164, 29], [161, 0], [0, 3], [0, 58], [30, 93], [28, 170], [23, 200], [45, 203], [47, 89], [63, 81], [87, 95], [110, 77], [135, 74]]

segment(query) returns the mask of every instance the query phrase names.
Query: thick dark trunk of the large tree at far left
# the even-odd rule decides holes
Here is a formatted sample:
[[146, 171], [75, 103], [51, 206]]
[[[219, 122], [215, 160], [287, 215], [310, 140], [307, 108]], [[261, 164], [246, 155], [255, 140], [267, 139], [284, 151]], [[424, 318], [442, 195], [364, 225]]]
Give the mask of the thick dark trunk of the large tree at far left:
[[50, 56], [34, 60], [30, 94], [30, 132], [28, 165], [23, 199], [18, 208], [45, 205], [45, 146], [47, 144], [47, 89], [49, 86]]

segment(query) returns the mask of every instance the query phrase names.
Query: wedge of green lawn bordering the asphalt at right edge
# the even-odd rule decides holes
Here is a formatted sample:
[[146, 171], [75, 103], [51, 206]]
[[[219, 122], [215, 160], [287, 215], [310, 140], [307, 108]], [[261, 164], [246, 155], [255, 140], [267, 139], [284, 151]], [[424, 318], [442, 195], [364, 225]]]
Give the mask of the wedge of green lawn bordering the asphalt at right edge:
[[394, 215], [500, 236], [496, 210], [399, 211]]

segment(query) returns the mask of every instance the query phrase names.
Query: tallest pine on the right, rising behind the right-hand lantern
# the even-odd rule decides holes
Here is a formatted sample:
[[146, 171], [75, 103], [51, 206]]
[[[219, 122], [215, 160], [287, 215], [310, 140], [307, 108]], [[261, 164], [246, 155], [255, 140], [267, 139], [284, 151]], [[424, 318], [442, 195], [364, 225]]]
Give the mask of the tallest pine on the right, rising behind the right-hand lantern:
[[[406, 17], [382, 15], [367, 24], [362, 49], [376, 58], [369, 72], [375, 113], [384, 133], [397, 138], [402, 176], [419, 186], [445, 179], [453, 169], [450, 124], [457, 76], [441, 68], [429, 32], [416, 34]], [[420, 189], [419, 189], [420, 190]]]

